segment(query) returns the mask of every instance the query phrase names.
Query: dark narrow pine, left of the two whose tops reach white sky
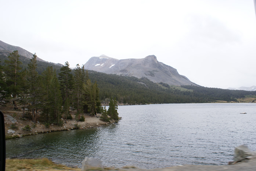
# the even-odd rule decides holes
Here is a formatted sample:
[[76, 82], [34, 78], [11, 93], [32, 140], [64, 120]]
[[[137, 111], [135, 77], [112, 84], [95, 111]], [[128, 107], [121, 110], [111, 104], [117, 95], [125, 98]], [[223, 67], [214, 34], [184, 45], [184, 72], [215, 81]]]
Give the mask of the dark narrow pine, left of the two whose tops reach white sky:
[[65, 62], [65, 66], [61, 67], [59, 74], [59, 80], [61, 85], [61, 94], [63, 99], [63, 108], [65, 114], [65, 122], [67, 117], [70, 115], [69, 107], [71, 104], [71, 91], [73, 86], [73, 75], [71, 74], [71, 69], [69, 68], [69, 63]]

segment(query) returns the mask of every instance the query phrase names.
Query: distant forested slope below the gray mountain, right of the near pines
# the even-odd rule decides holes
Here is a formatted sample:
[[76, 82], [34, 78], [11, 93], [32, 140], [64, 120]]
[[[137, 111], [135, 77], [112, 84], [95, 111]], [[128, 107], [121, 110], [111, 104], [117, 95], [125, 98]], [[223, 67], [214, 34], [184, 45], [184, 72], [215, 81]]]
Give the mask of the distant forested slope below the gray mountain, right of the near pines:
[[97, 81], [100, 99], [116, 98], [123, 104], [159, 103], [211, 103], [215, 101], [237, 101], [256, 92], [205, 88], [202, 86], [170, 86], [154, 83], [147, 78], [123, 77], [114, 74], [89, 71], [90, 79]]

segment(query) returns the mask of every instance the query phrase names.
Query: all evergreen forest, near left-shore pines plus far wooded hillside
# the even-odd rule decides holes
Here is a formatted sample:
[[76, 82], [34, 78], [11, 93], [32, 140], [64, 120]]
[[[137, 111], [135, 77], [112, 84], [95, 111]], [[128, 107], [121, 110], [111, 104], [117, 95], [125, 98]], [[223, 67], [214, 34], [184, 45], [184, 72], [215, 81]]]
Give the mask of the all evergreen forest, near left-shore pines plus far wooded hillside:
[[[34, 54], [27, 59], [18, 51], [8, 56], [0, 54], [0, 102], [12, 101], [15, 109], [21, 106], [24, 116], [29, 115], [33, 122], [39, 111], [47, 122], [61, 124], [61, 117], [71, 117], [71, 108], [77, 112], [76, 120], [82, 113], [102, 113], [118, 119], [117, 104], [237, 102], [238, 98], [256, 95], [256, 91], [154, 83], [147, 78], [87, 71], [79, 64], [71, 70], [68, 62], [60, 66], [39, 62], [36, 57]], [[113, 113], [105, 111], [101, 104], [114, 105], [109, 109]]]

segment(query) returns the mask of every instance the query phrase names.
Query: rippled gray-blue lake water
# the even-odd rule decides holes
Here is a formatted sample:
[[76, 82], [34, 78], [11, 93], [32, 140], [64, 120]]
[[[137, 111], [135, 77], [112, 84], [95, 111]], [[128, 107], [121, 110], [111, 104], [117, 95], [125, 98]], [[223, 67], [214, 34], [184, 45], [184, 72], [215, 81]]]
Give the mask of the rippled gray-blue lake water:
[[133, 105], [119, 106], [118, 113], [118, 124], [7, 140], [7, 157], [81, 167], [92, 156], [105, 167], [161, 168], [227, 164], [242, 144], [256, 150], [256, 104]]

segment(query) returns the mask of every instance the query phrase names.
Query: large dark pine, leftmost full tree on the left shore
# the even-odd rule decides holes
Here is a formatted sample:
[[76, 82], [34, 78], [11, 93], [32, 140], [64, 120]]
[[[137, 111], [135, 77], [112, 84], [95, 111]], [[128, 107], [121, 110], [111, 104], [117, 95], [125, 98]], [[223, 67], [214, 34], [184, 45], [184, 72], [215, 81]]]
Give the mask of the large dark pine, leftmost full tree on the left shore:
[[12, 103], [14, 104], [14, 109], [18, 109], [16, 98], [19, 93], [20, 85], [18, 83], [20, 77], [20, 65], [22, 64], [19, 61], [19, 53], [18, 51], [13, 51], [8, 56], [8, 60], [4, 61], [6, 63], [4, 72], [6, 74], [6, 84], [13, 98]]

